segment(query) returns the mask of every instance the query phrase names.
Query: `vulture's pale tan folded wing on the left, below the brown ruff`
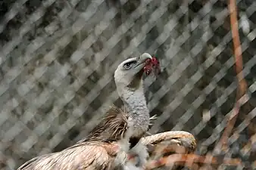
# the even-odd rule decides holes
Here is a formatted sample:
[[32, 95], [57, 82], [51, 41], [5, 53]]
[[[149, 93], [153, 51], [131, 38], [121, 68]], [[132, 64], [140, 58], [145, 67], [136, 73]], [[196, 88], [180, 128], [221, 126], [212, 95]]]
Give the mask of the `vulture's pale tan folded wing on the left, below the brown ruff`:
[[76, 144], [58, 153], [38, 156], [24, 163], [17, 170], [66, 170], [66, 169], [109, 169], [115, 153], [112, 145], [101, 142]]

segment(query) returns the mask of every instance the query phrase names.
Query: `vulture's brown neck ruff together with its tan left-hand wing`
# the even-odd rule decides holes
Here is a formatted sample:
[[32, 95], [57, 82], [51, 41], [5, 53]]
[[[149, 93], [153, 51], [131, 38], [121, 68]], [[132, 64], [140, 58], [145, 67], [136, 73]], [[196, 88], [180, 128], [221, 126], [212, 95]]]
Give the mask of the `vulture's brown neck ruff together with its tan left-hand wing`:
[[106, 139], [118, 141], [122, 138], [127, 130], [127, 118], [123, 110], [112, 106], [88, 138], [61, 152], [30, 159], [18, 170], [109, 169], [115, 153], [111, 148], [114, 144], [106, 144]]

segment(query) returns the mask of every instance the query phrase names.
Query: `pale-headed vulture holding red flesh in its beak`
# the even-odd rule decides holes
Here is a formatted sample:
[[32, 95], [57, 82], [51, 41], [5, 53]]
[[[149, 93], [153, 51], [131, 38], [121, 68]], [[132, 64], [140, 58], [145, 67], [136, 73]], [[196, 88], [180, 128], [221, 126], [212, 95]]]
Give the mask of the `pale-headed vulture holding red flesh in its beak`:
[[[60, 152], [30, 159], [17, 170], [142, 170], [149, 154], [164, 141], [194, 150], [195, 138], [186, 131], [144, 137], [151, 120], [155, 119], [149, 116], [142, 80], [145, 69], [147, 73], [153, 69], [148, 69], [148, 63], [158, 66], [151, 60], [151, 55], [144, 53], [117, 66], [114, 82], [123, 109], [113, 105], [86, 139]], [[136, 156], [136, 161], [131, 161], [130, 155]]]

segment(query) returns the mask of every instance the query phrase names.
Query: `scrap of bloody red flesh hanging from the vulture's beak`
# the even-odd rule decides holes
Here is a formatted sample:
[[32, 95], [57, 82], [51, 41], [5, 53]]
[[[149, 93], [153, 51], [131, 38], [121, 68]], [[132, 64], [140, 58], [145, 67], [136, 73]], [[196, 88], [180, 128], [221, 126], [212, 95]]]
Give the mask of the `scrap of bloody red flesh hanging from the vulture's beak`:
[[156, 57], [145, 61], [144, 72], [148, 76], [151, 72], [158, 75], [160, 73], [160, 63]]

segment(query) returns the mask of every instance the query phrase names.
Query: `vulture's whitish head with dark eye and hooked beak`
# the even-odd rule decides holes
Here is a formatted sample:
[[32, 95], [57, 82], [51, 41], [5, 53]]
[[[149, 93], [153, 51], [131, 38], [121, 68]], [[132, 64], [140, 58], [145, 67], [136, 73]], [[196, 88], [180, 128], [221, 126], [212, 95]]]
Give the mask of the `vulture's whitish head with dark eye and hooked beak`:
[[151, 55], [144, 53], [139, 57], [124, 60], [117, 66], [117, 70], [114, 72], [114, 81], [119, 94], [125, 89], [136, 91], [142, 87], [143, 68], [148, 59], [152, 59]]

